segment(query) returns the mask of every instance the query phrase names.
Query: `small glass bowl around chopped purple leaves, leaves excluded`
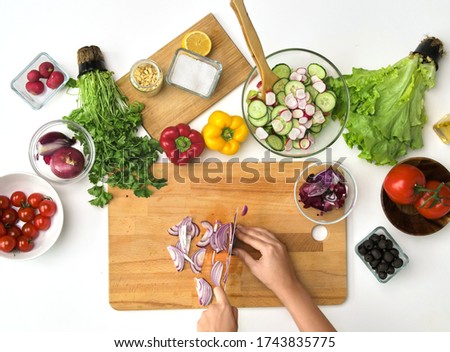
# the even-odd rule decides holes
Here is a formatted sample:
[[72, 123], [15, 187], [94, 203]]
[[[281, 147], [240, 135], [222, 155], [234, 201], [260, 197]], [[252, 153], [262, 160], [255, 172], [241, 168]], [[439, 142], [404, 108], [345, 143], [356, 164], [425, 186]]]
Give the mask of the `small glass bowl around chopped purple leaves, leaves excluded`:
[[[305, 208], [300, 199], [300, 188], [307, 183], [308, 176], [311, 174], [317, 175], [319, 172], [325, 171], [329, 167], [332, 167], [335, 172], [339, 172], [344, 177], [343, 183], [347, 194], [344, 205], [340, 208], [333, 208], [332, 210], [326, 212], [313, 207]], [[355, 179], [350, 171], [348, 171], [348, 169], [339, 162], [319, 161], [306, 165], [306, 167], [300, 172], [300, 175], [294, 185], [295, 204], [297, 204], [297, 208], [300, 210], [300, 213], [310, 221], [321, 225], [331, 225], [345, 219], [355, 206], [357, 193]]]

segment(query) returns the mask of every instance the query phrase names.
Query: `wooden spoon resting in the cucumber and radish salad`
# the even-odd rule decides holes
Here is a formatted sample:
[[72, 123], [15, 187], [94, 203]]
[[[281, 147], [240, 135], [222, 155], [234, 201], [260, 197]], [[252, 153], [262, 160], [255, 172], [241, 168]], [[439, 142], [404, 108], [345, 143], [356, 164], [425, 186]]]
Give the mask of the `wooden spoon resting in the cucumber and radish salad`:
[[279, 80], [279, 77], [272, 72], [271, 68], [267, 64], [266, 56], [264, 55], [258, 34], [256, 34], [255, 27], [253, 27], [252, 21], [248, 17], [244, 0], [231, 0], [230, 6], [239, 20], [245, 41], [247, 42], [252, 58], [256, 63], [256, 68], [261, 76], [262, 98], [265, 100], [266, 92], [272, 91], [272, 87], [274, 83]]

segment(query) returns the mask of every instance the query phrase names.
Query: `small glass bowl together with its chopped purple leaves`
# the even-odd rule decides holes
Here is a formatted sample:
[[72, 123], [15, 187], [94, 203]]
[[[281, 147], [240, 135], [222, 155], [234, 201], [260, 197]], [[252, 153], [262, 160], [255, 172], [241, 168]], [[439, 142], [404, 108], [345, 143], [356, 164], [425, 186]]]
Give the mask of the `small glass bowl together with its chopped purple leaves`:
[[355, 179], [339, 162], [307, 164], [294, 185], [300, 213], [321, 225], [344, 220], [355, 206], [357, 193]]

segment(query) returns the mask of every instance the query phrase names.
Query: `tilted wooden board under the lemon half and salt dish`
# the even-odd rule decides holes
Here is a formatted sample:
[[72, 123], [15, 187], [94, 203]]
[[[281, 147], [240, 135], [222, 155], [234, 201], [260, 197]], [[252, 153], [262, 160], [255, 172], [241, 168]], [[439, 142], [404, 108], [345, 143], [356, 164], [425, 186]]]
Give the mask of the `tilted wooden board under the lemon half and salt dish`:
[[219, 83], [212, 97], [200, 98], [167, 84], [165, 80], [159, 94], [149, 97], [131, 85], [129, 74], [117, 81], [118, 86], [130, 102], [139, 101], [145, 104], [142, 112], [143, 126], [155, 138], [159, 138], [162, 130], [167, 126], [180, 122], [191, 122], [243, 83], [252, 69], [214, 15], [208, 14], [150, 56], [160, 65], [164, 75], [169, 70], [175, 51], [181, 47], [182, 38], [193, 30], [203, 31], [211, 38], [212, 50], [208, 57], [219, 61], [223, 66]]

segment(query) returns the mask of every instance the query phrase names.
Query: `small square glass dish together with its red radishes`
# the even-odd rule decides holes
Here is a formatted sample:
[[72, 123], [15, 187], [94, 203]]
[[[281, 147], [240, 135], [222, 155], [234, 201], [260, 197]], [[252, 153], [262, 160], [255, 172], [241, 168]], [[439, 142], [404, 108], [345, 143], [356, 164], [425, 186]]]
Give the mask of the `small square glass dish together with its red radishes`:
[[67, 81], [69, 75], [47, 53], [39, 53], [11, 82], [11, 88], [33, 109], [42, 108]]

